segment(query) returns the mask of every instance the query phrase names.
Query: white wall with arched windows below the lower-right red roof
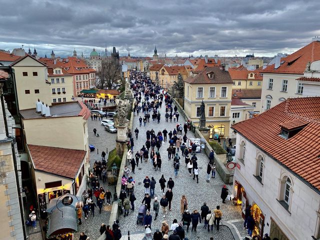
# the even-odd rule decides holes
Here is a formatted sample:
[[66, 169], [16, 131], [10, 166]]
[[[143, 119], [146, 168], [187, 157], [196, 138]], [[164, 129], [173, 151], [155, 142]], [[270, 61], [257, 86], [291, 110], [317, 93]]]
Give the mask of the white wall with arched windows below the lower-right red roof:
[[[238, 167], [234, 172], [234, 185], [237, 182], [244, 188], [246, 204], [256, 204], [261, 209], [264, 215], [262, 234], [270, 232], [272, 219], [287, 239], [310, 240], [313, 239], [312, 235], [319, 236], [319, 193], [239, 133], [236, 134], [236, 149]], [[262, 179], [259, 181], [255, 175], [259, 171], [261, 157], [264, 164]], [[282, 185], [287, 177], [291, 181], [288, 209], [280, 203], [284, 195]], [[271, 231], [275, 232], [273, 229]]]

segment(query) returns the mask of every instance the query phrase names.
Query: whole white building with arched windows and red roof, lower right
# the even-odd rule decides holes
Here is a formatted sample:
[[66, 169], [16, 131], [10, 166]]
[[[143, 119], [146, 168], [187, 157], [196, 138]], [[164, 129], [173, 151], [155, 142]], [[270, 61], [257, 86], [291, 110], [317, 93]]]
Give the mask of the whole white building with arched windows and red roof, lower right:
[[232, 125], [233, 194], [242, 210], [251, 204], [254, 235], [319, 239], [319, 119], [320, 97], [299, 97]]

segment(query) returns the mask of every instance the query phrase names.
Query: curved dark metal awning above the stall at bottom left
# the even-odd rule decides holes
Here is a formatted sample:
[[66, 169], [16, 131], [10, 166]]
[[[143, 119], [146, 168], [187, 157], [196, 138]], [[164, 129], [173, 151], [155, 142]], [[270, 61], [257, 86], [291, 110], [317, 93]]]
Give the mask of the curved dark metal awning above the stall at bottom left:
[[68, 232], [77, 231], [77, 218], [75, 208], [72, 206], [59, 207], [62, 212], [55, 208], [49, 217], [47, 236], [56, 236]]

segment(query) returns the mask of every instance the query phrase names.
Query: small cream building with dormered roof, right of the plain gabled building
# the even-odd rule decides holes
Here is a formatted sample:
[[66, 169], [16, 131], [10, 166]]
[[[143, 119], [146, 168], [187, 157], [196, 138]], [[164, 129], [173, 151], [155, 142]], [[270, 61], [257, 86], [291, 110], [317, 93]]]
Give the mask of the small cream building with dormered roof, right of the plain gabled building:
[[72, 74], [67, 73], [58, 65], [49, 65], [48, 81], [50, 82], [51, 102], [71, 101], [73, 96], [73, 78]]

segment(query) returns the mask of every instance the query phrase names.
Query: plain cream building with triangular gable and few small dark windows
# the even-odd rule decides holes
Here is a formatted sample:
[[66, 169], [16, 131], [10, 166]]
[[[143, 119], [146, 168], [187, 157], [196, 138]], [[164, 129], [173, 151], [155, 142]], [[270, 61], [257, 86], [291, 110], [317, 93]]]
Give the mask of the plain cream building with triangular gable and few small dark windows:
[[38, 98], [51, 105], [50, 86], [46, 65], [25, 55], [11, 64], [15, 74], [19, 110], [33, 108]]

